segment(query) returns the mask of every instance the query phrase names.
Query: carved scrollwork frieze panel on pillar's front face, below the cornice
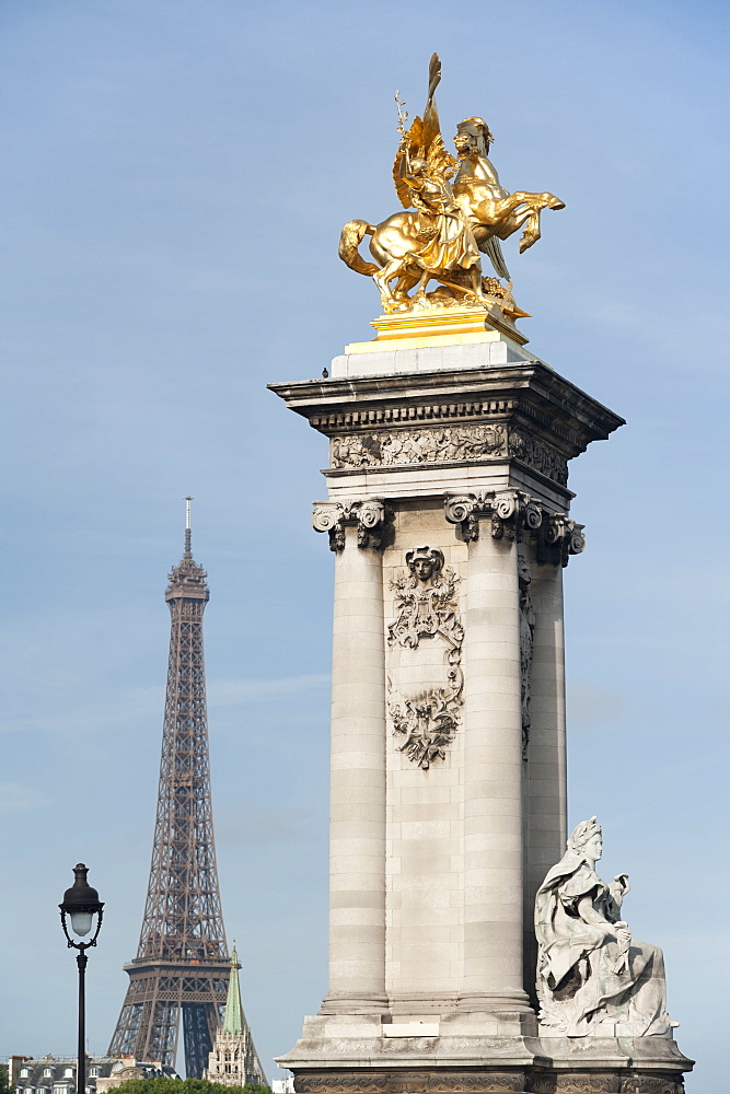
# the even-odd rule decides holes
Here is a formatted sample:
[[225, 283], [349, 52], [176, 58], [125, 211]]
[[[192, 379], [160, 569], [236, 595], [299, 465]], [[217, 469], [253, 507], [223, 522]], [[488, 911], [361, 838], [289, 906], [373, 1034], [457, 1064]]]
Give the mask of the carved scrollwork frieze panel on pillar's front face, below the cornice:
[[335, 468], [442, 463], [506, 454], [507, 430], [499, 424], [375, 430], [334, 437], [331, 444]]

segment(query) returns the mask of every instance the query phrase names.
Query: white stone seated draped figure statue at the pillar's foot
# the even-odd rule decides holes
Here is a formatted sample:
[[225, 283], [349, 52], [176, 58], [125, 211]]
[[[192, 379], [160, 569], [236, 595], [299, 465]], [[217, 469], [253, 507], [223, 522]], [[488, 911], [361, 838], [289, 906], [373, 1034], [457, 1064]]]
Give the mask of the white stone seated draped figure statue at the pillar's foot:
[[621, 918], [628, 876], [601, 881], [602, 851], [595, 817], [583, 821], [537, 891], [543, 1036], [671, 1037], [662, 952], [631, 938]]

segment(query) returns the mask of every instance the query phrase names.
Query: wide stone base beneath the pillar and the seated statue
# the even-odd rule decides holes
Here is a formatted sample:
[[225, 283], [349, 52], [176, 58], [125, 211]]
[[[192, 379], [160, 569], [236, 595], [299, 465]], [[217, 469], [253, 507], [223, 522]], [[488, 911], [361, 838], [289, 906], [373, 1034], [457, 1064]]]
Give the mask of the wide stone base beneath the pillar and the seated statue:
[[534, 1014], [317, 1014], [278, 1062], [300, 1094], [683, 1094], [671, 1037], [535, 1035]]

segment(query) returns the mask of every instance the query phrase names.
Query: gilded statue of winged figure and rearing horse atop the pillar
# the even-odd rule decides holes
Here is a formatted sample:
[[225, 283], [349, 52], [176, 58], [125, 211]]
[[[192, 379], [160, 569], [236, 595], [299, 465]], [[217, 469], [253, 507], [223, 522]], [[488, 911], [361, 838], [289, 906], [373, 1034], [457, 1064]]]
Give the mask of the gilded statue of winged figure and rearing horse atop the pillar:
[[[554, 194], [510, 194], [499, 182], [489, 160], [494, 136], [483, 118], [460, 121], [454, 146], [457, 159], [447, 150], [436, 107], [441, 62], [433, 54], [429, 66], [428, 98], [424, 117], [408, 130], [407, 114], [397, 97], [401, 142], [393, 166], [393, 181], [406, 212], [396, 212], [381, 224], [351, 220], [339, 240], [339, 257], [350, 269], [372, 277], [385, 312], [408, 311], [416, 305], [486, 305], [495, 300], [506, 313], [524, 315], [514, 306], [500, 240], [523, 229], [520, 252], [540, 238], [543, 209], [563, 209]], [[366, 261], [358, 247], [371, 236]], [[482, 254], [487, 255], [497, 278], [482, 276]], [[440, 287], [428, 294], [429, 281]], [[413, 296], [408, 293], [415, 289]]]

